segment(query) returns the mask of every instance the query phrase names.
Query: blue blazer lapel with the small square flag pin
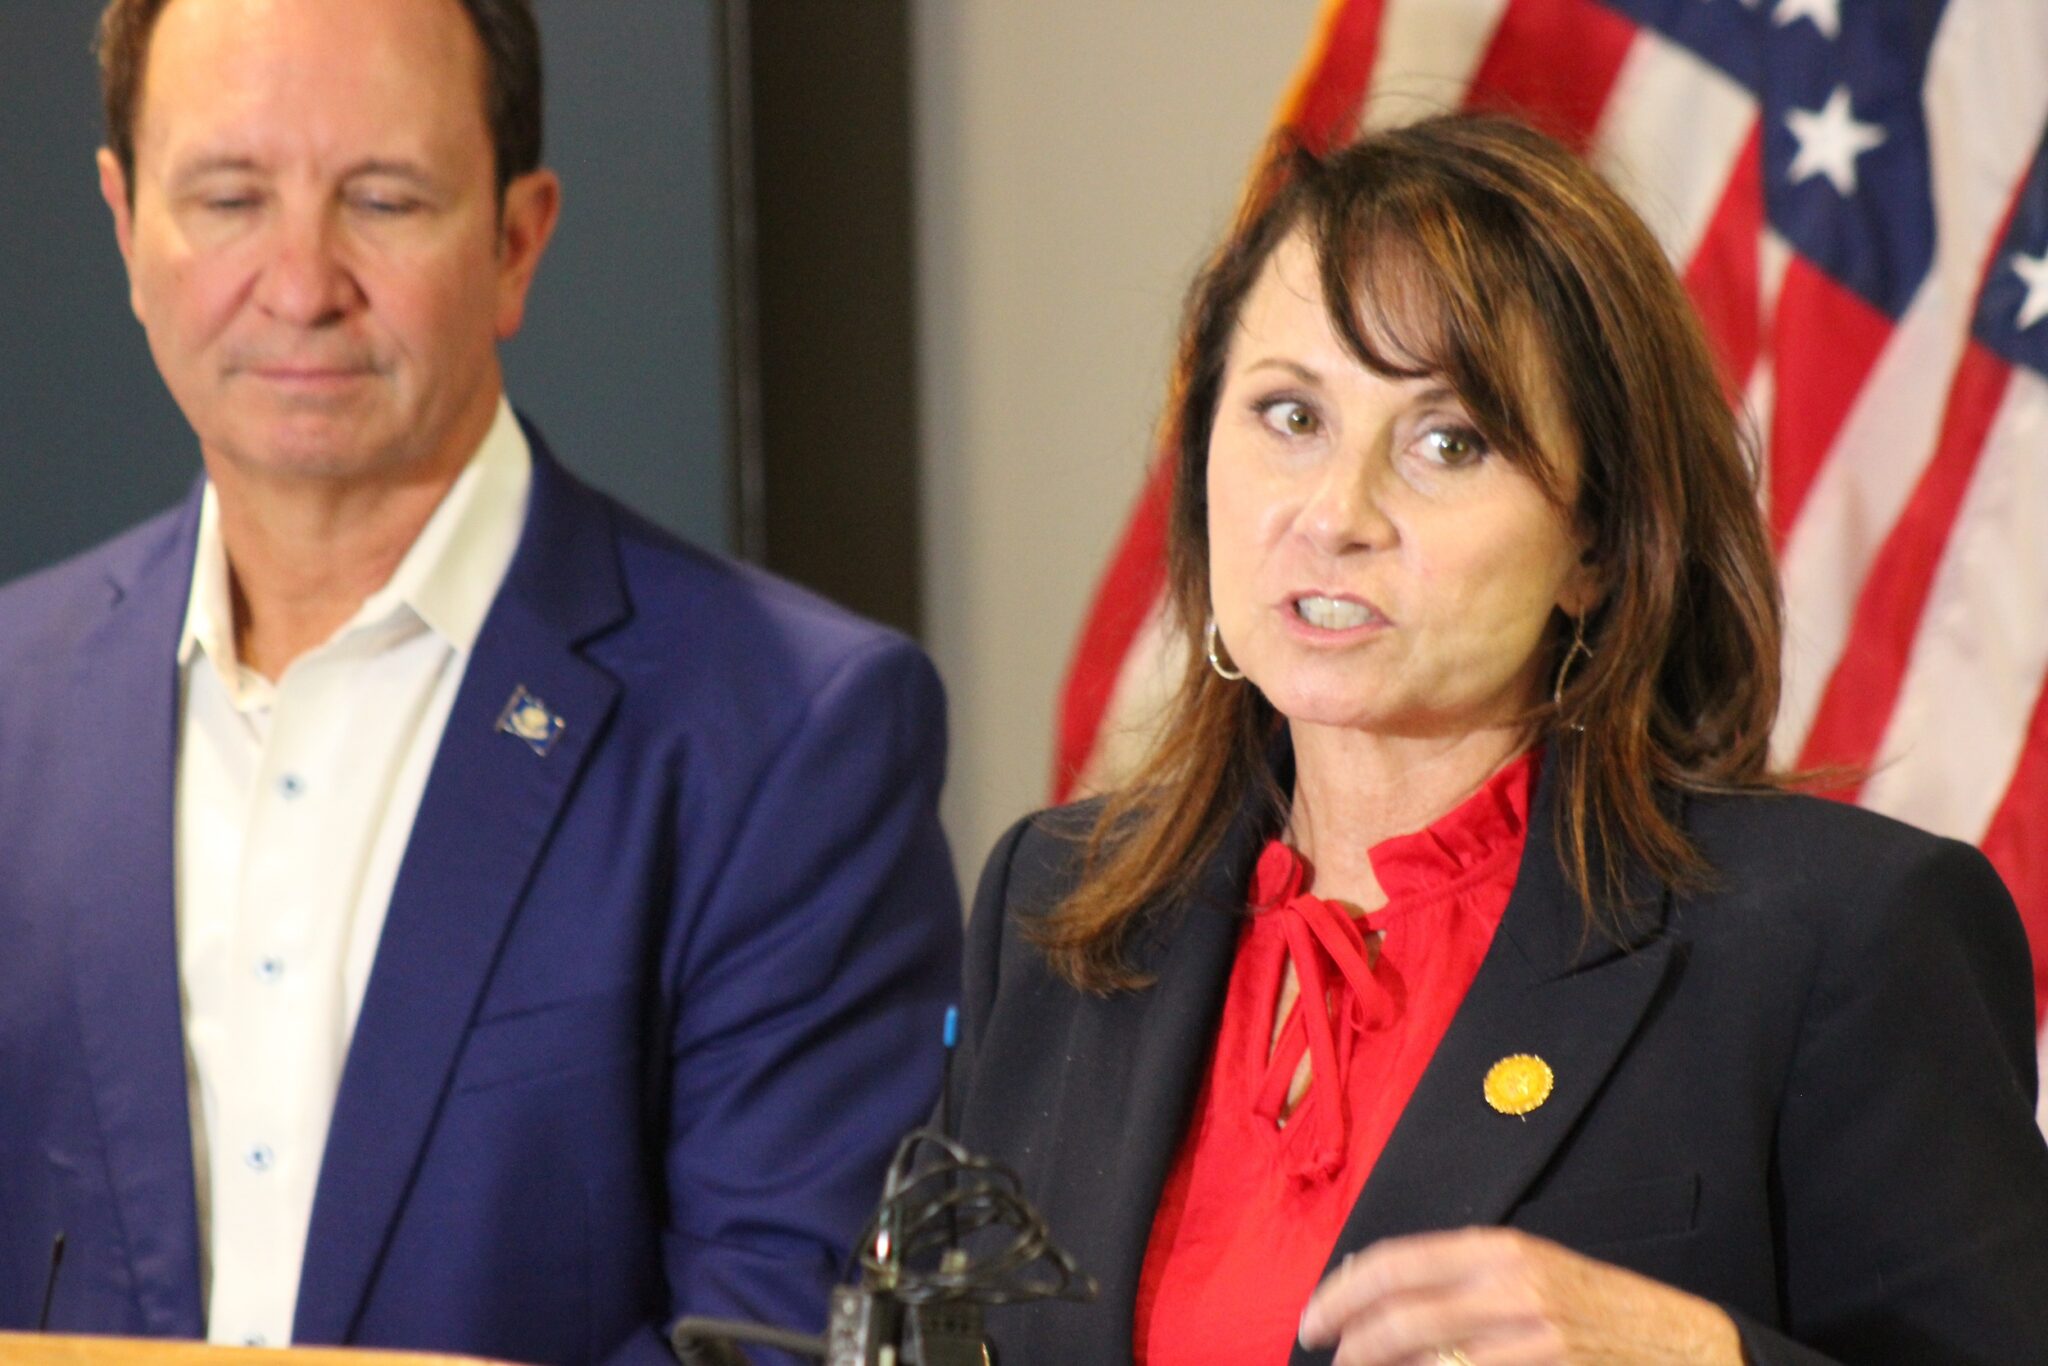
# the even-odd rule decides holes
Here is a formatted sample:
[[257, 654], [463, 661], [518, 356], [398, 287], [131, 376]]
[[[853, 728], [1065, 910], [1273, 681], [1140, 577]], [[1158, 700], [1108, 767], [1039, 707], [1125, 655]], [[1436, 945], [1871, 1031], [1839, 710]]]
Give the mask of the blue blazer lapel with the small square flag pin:
[[[297, 1341], [354, 1331], [498, 946], [618, 696], [575, 653], [627, 614], [610, 514], [528, 438], [526, 528], [449, 713], [342, 1071]], [[553, 745], [502, 725], [520, 690], [561, 719]]]

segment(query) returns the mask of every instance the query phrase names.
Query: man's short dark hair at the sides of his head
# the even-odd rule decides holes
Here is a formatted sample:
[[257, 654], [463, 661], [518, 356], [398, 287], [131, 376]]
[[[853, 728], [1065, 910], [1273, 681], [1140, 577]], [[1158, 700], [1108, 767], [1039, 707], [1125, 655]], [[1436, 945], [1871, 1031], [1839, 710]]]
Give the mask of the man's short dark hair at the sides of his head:
[[[150, 35], [170, 0], [109, 0], [100, 14], [100, 98], [106, 145], [135, 199], [135, 115]], [[483, 41], [483, 117], [492, 129], [498, 195], [541, 166], [541, 27], [532, 0], [459, 0]]]

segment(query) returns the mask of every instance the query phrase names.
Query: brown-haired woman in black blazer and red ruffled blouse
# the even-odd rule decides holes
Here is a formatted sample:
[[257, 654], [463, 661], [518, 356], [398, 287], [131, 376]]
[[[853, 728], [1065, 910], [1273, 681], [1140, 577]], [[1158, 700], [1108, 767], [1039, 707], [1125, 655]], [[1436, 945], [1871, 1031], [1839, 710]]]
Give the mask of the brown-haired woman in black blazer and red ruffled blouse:
[[1624, 203], [1505, 121], [1278, 158], [1169, 430], [1176, 709], [969, 928], [961, 1137], [1102, 1282], [1006, 1360], [2048, 1360], [2017, 917], [1767, 770], [1753, 477]]

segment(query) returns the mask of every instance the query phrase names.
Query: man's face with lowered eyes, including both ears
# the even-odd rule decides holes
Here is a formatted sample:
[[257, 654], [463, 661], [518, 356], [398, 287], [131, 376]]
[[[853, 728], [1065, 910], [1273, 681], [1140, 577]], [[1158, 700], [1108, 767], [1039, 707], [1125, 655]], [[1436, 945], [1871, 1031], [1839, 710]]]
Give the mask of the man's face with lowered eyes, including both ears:
[[133, 178], [100, 152], [135, 315], [215, 477], [469, 457], [559, 188], [522, 176], [500, 221], [457, 0], [172, 0]]

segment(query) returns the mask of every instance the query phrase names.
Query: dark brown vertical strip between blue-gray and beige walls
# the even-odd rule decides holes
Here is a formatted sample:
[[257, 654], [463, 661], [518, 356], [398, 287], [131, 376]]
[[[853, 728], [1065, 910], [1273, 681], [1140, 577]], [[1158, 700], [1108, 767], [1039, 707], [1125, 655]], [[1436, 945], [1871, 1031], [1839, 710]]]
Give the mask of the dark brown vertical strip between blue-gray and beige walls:
[[[743, 328], [760, 489], [748, 549], [922, 627], [909, 10], [729, 0], [743, 41]], [[748, 442], [741, 444], [748, 451]]]

